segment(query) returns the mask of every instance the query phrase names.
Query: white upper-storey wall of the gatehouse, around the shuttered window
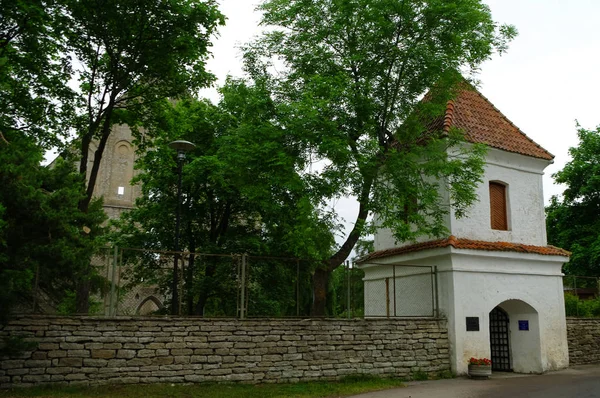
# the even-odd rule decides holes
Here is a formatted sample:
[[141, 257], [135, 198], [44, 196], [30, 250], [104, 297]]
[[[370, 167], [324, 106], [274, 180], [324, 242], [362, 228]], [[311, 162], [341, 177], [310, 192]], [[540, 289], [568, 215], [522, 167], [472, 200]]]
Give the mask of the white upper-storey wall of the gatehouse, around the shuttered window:
[[[513, 242], [545, 246], [546, 227], [542, 177], [549, 161], [516, 153], [489, 148], [483, 183], [477, 188], [479, 201], [466, 217], [457, 219], [451, 211], [446, 218], [450, 234], [458, 238], [492, 242]], [[492, 230], [490, 224], [489, 182], [500, 181], [507, 185], [508, 231]], [[441, 193], [448, 202], [447, 194]], [[422, 237], [427, 241], [433, 237]], [[401, 247], [414, 242], [397, 243], [389, 229], [375, 234], [375, 250]]]

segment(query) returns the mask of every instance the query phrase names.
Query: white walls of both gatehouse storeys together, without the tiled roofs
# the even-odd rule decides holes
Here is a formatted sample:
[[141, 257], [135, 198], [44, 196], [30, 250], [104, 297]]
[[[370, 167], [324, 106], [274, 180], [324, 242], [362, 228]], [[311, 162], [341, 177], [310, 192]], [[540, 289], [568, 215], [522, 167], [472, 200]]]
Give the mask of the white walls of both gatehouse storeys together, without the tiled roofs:
[[[467, 216], [447, 217], [450, 234], [459, 239], [512, 242], [546, 246], [542, 176], [551, 162], [489, 148], [483, 182], [477, 188], [479, 201]], [[489, 183], [507, 186], [508, 230], [491, 228]], [[448, 201], [447, 192], [441, 200]], [[423, 237], [427, 241], [434, 237]], [[375, 250], [401, 247], [391, 231], [380, 229]], [[453, 247], [429, 249], [377, 259], [378, 264], [435, 266], [437, 302], [441, 316], [448, 319], [452, 369], [465, 374], [471, 357], [491, 357], [489, 313], [496, 306], [509, 316], [511, 366], [516, 372], [540, 373], [568, 366], [562, 265], [567, 257], [517, 252], [461, 250]], [[374, 281], [384, 265], [363, 264], [365, 281]], [[378, 269], [382, 268], [382, 269]], [[388, 267], [389, 268], [389, 267]], [[387, 271], [385, 271], [387, 272]], [[376, 308], [380, 297], [365, 283], [365, 315]], [[385, 298], [384, 298], [385, 300]], [[417, 305], [418, 295], [404, 305]], [[385, 309], [385, 301], [383, 302]], [[402, 311], [402, 310], [400, 310]], [[478, 317], [480, 330], [466, 331], [466, 317]], [[529, 321], [529, 330], [519, 330], [518, 321]]]

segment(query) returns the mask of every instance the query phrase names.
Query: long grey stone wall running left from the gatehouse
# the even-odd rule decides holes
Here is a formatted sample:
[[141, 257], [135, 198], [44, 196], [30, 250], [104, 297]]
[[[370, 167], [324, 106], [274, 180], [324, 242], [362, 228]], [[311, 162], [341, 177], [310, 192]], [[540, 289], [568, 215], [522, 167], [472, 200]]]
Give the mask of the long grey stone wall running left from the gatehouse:
[[247, 383], [449, 371], [446, 322], [19, 316], [0, 338], [33, 351], [0, 358], [0, 387], [68, 383]]

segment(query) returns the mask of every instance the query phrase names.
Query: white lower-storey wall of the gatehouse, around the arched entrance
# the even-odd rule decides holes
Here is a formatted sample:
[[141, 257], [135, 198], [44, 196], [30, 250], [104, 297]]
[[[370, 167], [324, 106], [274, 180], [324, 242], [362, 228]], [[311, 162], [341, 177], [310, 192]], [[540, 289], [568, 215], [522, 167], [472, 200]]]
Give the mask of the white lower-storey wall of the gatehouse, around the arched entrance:
[[[464, 374], [470, 357], [491, 356], [489, 313], [497, 305], [510, 318], [511, 363], [516, 372], [539, 373], [568, 366], [561, 273], [567, 260], [447, 247], [378, 262], [437, 266], [439, 310], [448, 319], [452, 369]], [[376, 268], [363, 266], [365, 279]], [[369, 297], [365, 291], [366, 316]], [[478, 332], [466, 331], [466, 317], [479, 317]], [[519, 320], [529, 320], [530, 330], [519, 331]]]

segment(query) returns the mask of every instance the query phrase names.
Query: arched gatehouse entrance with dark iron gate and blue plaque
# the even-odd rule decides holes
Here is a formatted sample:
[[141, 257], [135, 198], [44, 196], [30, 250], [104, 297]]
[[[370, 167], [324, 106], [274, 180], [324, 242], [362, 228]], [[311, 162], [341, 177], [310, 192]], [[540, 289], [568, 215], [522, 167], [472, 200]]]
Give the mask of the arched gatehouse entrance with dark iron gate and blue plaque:
[[[505, 314], [505, 317], [501, 316]], [[504, 326], [503, 326], [504, 325]], [[492, 330], [492, 328], [495, 330]], [[506, 300], [490, 312], [490, 348], [497, 370], [542, 373], [539, 315], [521, 300]], [[506, 351], [505, 351], [506, 350]]]

